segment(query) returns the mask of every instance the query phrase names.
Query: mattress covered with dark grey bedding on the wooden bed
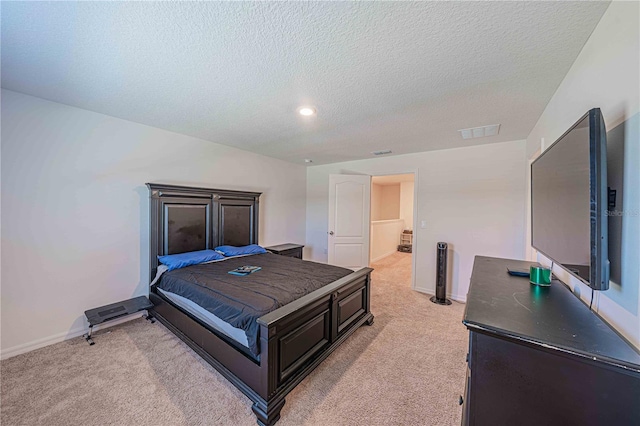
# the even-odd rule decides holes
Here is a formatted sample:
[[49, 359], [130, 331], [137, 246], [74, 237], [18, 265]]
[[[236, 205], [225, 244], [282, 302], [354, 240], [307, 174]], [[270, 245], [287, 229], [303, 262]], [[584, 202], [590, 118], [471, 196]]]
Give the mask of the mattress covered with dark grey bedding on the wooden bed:
[[[245, 265], [262, 269], [247, 276], [229, 274], [229, 271]], [[198, 308], [189, 304], [189, 309], [195, 310], [198, 315], [203, 311], [213, 314], [216, 319], [208, 317], [207, 321], [212, 321], [222, 329], [220, 332], [238, 343], [241, 342], [236, 338], [237, 330], [242, 330], [247, 339], [247, 345], [244, 346], [257, 356], [259, 326], [256, 320], [259, 317], [351, 272], [350, 269], [337, 266], [265, 253], [165, 272], [156, 287], [193, 302]], [[182, 299], [176, 300], [184, 303]], [[174, 303], [187, 310], [187, 307]], [[231, 328], [217, 323], [217, 320]]]

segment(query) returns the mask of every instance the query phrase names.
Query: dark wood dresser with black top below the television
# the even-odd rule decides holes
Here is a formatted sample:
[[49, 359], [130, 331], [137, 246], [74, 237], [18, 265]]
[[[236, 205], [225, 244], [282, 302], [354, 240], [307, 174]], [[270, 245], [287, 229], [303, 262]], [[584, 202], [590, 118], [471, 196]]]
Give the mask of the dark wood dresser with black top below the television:
[[507, 274], [531, 264], [475, 258], [462, 424], [640, 425], [638, 352], [561, 282]]

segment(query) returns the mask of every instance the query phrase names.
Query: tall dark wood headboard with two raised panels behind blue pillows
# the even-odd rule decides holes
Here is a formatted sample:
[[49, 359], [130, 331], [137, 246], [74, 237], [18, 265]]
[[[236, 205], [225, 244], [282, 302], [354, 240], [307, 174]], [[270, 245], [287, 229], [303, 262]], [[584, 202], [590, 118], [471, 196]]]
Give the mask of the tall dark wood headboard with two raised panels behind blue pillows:
[[258, 243], [260, 192], [147, 183], [150, 197], [149, 280], [158, 256]]

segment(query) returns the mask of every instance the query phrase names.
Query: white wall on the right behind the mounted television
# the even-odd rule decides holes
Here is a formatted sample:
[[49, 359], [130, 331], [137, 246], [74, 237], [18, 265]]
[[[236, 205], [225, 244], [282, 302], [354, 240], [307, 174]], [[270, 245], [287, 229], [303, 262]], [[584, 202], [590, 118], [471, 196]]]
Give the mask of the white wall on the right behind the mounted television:
[[[638, 2], [611, 3], [527, 138], [527, 155], [530, 158], [535, 155], [541, 140], [542, 145], [551, 145], [594, 107], [602, 110], [607, 130], [619, 132], [624, 139], [623, 203], [628, 214], [622, 217], [622, 241], [618, 242], [622, 253], [621, 279], [620, 283], [612, 282], [606, 292], [596, 293], [594, 307], [640, 348], [639, 16]], [[623, 126], [615, 129], [621, 123]], [[530, 235], [527, 245], [529, 241]], [[542, 257], [541, 261], [548, 264]], [[559, 268], [554, 272], [589, 303], [591, 292], [587, 286]]]

